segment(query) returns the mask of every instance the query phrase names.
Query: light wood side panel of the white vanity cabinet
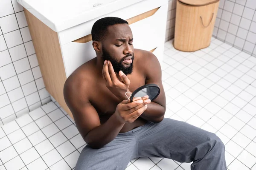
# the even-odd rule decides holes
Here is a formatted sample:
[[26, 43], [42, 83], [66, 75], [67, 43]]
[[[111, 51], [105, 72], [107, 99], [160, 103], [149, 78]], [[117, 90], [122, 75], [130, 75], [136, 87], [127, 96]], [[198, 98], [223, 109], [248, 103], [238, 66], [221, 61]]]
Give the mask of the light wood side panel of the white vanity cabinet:
[[65, 73], [58, 34], [38, 20], [38, 18], [25, 8], [24, 13], [29, 25], [29, 32], [35, 47], [46, 90], [73, 118], [63, 95], [64, 83], [67, 76]]

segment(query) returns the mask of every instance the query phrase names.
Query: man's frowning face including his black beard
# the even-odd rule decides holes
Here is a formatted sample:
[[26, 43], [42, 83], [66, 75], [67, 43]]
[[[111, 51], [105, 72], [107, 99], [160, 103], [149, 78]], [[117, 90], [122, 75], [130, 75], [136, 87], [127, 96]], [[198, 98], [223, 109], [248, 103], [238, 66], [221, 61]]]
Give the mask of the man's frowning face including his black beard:
[[127, 24], [116, 24], [108, 27], [105, 40], [102, 42], [102, 58], [111, 61], [116, 73], [124, 74], [133, 71], [134, 48], [130, 27]]

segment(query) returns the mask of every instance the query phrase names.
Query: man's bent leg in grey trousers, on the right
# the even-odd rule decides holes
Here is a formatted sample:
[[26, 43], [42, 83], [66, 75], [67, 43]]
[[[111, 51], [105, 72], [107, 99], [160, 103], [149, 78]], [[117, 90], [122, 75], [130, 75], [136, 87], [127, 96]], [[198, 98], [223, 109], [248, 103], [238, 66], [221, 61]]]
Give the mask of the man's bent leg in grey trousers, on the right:
[[139, 157], [192, 162], [191, 170], [227, 170], [225, 147], [214, 133], [173, 119], [151, 122], [135, 133]]

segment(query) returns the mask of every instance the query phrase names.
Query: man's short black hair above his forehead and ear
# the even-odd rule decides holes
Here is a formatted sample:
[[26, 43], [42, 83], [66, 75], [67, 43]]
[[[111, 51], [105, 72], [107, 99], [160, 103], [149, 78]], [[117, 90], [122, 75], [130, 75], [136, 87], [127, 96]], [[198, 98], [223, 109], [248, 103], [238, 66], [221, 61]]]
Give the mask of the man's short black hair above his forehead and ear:
[[108, 31], [108, 26], [116, 24], [128, 24], [128, 22], [118, 17], [105, 17], [97, 20], [92, 28], [93, 41], [102, 41]]

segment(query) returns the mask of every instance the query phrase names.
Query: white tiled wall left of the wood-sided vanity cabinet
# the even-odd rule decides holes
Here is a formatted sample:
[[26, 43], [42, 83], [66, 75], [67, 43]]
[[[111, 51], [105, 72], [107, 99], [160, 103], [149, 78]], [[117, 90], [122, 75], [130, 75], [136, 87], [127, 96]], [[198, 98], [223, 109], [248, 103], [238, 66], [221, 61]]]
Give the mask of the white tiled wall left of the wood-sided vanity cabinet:
[[16, 0], [1, 0], [0, 126], [50, 100], [23, 8]]

